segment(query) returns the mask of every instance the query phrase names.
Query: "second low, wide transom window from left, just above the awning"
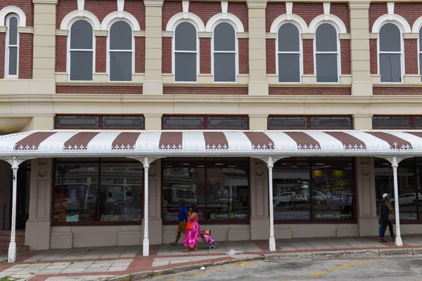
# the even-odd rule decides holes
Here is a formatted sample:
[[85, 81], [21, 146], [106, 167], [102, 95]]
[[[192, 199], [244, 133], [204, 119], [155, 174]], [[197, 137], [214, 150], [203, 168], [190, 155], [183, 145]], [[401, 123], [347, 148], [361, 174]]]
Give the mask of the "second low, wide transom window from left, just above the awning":
[[162, 129], [245, 129], [247, 116], [163, 116]]

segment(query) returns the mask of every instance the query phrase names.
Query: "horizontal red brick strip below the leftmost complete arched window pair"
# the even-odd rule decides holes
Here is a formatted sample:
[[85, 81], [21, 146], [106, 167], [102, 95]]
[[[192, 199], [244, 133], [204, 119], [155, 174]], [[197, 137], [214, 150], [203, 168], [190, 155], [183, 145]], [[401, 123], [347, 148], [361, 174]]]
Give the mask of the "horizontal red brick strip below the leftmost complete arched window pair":
[[136, 93], [142, 94], [141, 86], [56, 86], [57, 93]]

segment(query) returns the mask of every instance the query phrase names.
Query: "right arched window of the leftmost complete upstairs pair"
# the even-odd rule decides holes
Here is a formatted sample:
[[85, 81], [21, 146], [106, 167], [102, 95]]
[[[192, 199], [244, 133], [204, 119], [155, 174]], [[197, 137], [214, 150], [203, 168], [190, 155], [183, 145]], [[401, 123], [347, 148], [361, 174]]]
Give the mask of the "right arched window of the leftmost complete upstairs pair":
[[132, 81], [134, 72], [132, 27], [117, 21], [110, 27], [108, 38], [108, 73], [110, 81]]

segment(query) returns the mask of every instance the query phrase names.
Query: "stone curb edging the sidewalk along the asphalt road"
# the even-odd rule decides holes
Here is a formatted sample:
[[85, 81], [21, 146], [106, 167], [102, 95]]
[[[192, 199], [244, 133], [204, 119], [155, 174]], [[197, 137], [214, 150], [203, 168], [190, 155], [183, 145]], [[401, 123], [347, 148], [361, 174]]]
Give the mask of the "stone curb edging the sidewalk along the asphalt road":
[[108, 281], [139, 281], [148, 277], [182, 273], [196, 270], [201, 267], [224, 266], [230, 263], [241, 263], [245, 261], [263, 261], [269, 259], [324, 259], [339, 257], [375, 257], [375, 256], [395, 256], [395, 255], [422, 255], [422, 248], [396, 248], [396, 249], [367, 249], [367, 250], [346, 250], [346, 251], [305, 251], [300, 253], [278, 253], [278, 254], [257, 254], [243, 259], [231, 259], [228, 261], [216, 261], [215, 263], [198, 263], [191, 266], [177, 266], [160, 270], [147, 270], [139, 273], [131, 273], [108, 278]]

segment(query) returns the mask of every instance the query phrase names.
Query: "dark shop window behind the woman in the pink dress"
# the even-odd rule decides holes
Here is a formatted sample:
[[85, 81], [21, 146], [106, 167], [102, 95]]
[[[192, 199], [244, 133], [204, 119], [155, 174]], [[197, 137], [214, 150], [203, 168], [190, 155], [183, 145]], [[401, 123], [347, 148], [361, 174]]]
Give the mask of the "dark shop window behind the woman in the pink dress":
[[163, 159], [163, 221], [177, 222], [181, 202], [196, 204], [200, 221], [248, 221], [248, 166], [247, 158]]

